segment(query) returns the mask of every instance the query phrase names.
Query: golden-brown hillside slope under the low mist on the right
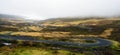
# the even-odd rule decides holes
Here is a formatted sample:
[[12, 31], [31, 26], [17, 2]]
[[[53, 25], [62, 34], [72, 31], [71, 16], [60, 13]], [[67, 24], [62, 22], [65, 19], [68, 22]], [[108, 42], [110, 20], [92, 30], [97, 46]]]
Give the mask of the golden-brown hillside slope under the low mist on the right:
[[71, 25], [106, 25], [120, 18], [56, 18], [42, 22], [44, 26], [71, 26]]

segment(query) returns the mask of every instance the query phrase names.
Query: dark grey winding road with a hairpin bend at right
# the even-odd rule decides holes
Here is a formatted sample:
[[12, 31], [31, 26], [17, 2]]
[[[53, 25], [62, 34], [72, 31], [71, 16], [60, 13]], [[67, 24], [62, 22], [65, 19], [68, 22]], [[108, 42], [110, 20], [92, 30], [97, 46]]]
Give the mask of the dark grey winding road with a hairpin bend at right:
[[83, 38], [83, 39], [91, 39], [96, 40], [95, 43], [72, 43], [72, 42], [63, 42], [63, 41], [55, 41], [55, 40], [39, 40], [33, 37], [24, 37], [24, 36], [0, 36], [0, 39], [8, 39], [8, 40], [22, 40], [22, 41], [33, 41], [33, 42], [42, 42], [47, 44], [55, 44], [55, 45], [63, 45], [63, 46], [110, 46], [112, 43], [109, 40], [101, 39], [101, 38]]

